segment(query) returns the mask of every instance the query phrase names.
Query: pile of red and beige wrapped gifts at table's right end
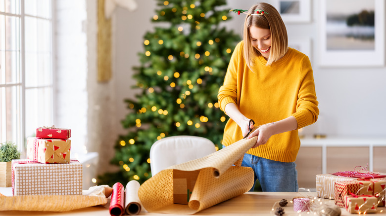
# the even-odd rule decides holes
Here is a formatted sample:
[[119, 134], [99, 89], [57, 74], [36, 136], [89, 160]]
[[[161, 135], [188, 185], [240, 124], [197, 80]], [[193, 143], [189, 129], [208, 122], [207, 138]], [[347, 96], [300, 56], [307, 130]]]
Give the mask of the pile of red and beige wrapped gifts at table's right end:
[[385, 177], [386, 174], [371, 172], [316, 175], [316, 192], [320, 198], [334, 199], [349, 213], [377, 213], [377, 207], [385, 206]]

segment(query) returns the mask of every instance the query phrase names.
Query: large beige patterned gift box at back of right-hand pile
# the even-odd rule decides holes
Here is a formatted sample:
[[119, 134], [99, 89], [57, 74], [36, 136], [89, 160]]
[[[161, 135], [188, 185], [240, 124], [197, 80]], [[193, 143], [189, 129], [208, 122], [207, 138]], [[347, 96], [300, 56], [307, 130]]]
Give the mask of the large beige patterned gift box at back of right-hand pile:
[[[379, 173], [379, 175], [386, 175], [384, 173]], [[316, 175], [316, 195], [320, 198], [325, 199], [334, 199], [334, 182], [337, 181], [349, 181], [349, 180], [358, 180], [357, 177], [346, 177], [346, 176], [337, 176], [333, 174], [319, 174]], [[375, 179], [371, 179], [375, 180]]]

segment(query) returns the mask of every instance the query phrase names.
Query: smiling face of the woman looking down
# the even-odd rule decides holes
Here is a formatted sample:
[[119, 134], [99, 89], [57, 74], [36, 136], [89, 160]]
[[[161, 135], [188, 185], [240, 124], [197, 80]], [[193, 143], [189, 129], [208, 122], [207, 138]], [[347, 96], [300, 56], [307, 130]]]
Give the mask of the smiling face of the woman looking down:
[[249, 35], [252, 46], [267, 60], [271, 51], [271, 30], [251, 26]]

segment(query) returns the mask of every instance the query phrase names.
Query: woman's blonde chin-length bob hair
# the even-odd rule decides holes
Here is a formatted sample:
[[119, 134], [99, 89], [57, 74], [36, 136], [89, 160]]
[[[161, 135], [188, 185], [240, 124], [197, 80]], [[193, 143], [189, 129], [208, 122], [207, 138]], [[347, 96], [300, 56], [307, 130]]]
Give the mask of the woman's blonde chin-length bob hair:
[[[256, 13], [255, 10], [263, 10], [263, 15], [249, 15]], [[252, 46], [249, 28], [251, 26], [271, 31], [271, 52], [267, 60], [267, 66], [282, 58], [288, 50], [288, 35], [282, 17], [274, 6], [268, 3], [258, 3], [248, 10], [244, 22], [244, 58], [249, 69], [255, 64], [257, 56], [261, 53]]]

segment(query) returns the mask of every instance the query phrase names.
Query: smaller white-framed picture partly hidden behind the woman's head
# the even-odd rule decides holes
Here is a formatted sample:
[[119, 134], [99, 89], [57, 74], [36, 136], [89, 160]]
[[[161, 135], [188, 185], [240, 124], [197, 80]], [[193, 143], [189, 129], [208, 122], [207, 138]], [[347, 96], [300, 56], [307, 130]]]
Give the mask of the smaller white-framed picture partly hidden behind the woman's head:
[[285, 23], [311, 22], [311, 0], [273, 0]]

